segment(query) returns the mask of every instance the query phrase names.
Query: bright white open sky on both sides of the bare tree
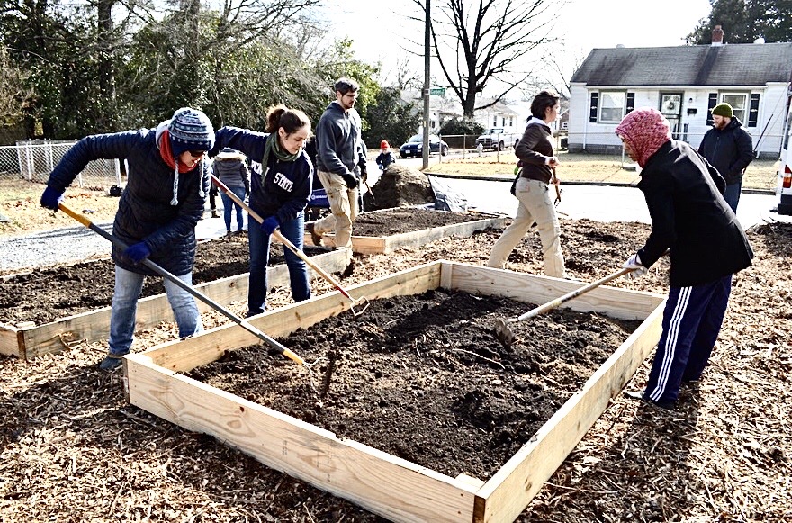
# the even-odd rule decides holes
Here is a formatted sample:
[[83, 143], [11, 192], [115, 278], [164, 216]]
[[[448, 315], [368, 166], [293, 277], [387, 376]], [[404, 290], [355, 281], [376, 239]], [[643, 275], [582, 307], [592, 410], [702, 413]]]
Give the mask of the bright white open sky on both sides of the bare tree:
[[[408, 56], [400, 44], [404, 45], [410, 36], [423, 41], [422, 28], [404, 16], [422, 16], [411, 0], [328, 0], [328, 5], [329, 37], [352, 39], [358, 59], [383, 62], [386, 75], [388, 69], [395, 70], [397, 60]], [[439, 9], [442, 1], [434, 0], [431, 5], [433, 10]], [[693, 32], [710, 10], [708, 0], [570, 0], [554, 14], [554, 35], [564, 42], [564, 52], [555, 56], [572, 69], [575, 62], [580, 63], [594, 48], [619, 44], [625, 47], [684, 45], [684, 37]], [[423, 71], [423, 59], [412, 57], [410, 66]], [[439, 78], [439, 68], [432, 67], [432, 76]]]

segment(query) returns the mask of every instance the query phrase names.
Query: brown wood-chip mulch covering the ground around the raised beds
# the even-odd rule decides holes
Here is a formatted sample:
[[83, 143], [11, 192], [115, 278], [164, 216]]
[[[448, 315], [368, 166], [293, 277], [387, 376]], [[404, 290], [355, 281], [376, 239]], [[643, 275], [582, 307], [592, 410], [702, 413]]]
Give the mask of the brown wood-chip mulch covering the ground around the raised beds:
[[[562, 227], [567, 265], [586, 281], [617, 270], [649, 232], [636, 223], [563, 221]], [[484, 231], [389, 255], [356, 255], [356, 270], [342, 284], [436, 259], [483, 265], [499, 236]], [[615, 397], [519, 521], [792, 520], [792, 226], [761, 225], [749, 239], [754, 265], [734, 279], [703, 380], [682, 391], [672, 413]], [[509, 257], [509, 268], [541, 272], [539, 253], [532, 231]], [[665, 264], [614, 285], [664, 294]], [[318, 281], [313, 290], [334, 289]], [[289, 290], [275, 289], [268, 302], [291, 303]], [[204, 315], [209, 327], [226, 322]], [[134, 349], [175, 336], [173, 325], [164, 324], [139, 333]], [[131, 407], [121, 375], [96, 368], [106, 349], [96, 342], [30, 362], [0, 358], [3, 520], [381, 520]], [[632, 386], [643, 386], [650, 363]]]

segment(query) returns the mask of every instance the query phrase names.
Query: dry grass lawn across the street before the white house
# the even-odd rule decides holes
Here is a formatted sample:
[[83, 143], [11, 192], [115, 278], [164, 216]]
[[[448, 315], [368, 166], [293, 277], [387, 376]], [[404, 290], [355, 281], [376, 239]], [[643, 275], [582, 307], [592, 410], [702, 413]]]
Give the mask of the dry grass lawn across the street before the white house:
[[[610, 184], [636, 184], [639, 172], [629, 158], [621, 155], [595, 155], [561, 152], [558, 176], [562, 182], [602, 182]], [[486, 152], [479, 157], [475, 153], [461, 159], [444, 159], [428, 168], [432, 173], [458, 176], [513, 176], [517, 161], [511, 150]], [[779, 162], [753, 160], [745, 176], [743, 189], [773, 191], [776, 188]]]

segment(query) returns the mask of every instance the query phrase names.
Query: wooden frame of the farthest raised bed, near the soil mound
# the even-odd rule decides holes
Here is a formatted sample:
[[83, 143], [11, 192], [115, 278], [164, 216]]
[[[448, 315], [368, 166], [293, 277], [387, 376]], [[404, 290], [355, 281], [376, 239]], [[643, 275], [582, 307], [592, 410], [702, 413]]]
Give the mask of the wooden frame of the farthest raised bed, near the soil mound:
[[[400, 211], [414, 209], [416, 212], [430, 212], [425, 207], [401, 208]], [[364, 221], [368, 217], [375, 217], [384, 213], [394, 212], [392, 209], [382, 211], [366, 212], [358, 217], [358, 221]], [[459, 214], [445, 211], [431, 211], [444, 213], [446, 215]], [[506, 216], [488, 214], [482, 212], [470, 212], [470, 221], [460, 223], [449, 223], [432, 227], [430, 229], [412, 230], [385, 236], [362, 236], [356, 235], [356, 224], [352, 224], [352, 250], [360, 254], [387, 254], [399, 248], [418, 248], [422, 245], [436, 241], [437, 239], [458, 236], [461, 238], [472, 236], [474, 232], [486, 229], [503, 229], [506, 227]], [[357, 221], [356, 221], [357, 223]], [[322, 241], [326, 247], [335, 247], [335, 235], [326, 234]], [[311, 234], [306, 233], [305, 244], [311, 245]]]

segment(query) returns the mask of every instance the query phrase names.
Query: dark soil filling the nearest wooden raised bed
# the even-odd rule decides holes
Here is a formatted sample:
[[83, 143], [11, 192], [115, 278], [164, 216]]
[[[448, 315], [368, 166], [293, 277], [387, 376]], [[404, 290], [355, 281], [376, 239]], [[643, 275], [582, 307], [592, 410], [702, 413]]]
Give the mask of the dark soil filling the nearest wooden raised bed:
[[[428, 291], [376, 300], [282, 339], [306, 360], [337, 358], [314, 386], [302, 367], [261, 345], [193, 369], [193, 378], [452, 477], [486, 480], [527, 443], [640, 321], [552, 311], [512, 323], [533, 305]], [[277, 354], [277, 353], [275, 353]]]

